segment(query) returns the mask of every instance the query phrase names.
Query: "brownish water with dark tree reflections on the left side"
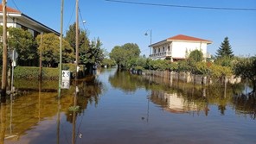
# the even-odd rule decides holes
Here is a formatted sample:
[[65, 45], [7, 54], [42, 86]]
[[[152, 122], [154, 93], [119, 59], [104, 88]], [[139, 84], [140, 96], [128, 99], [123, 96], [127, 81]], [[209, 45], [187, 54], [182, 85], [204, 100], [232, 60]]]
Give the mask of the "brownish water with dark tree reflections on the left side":
[[[26, 141], [29, 135], [36, 135], [36, 132], [29, 131], [33, 131], [40, 126], [39, 123], [53, 119], [55, 116], [58, 117], [57, 122], [60, 122], [60, 116], [65, 116], [66, 122], [74, 124], [77, 116], [84, 115], [88, 104], [97, 106], [99, 96], [103, 92], [101, 82], [93, 75], [80, 79], [77, 83], [72, 81], [69, 90], [61, 90], [60, 98], [58, 98], [58, 81], [43, 81], [40, 84], [38, 81], [16, 80], [15, 87], [16, 95], [6, 97], [6, 101], [1, 103], [0, 143], [9, 141], [29, 143]], [[25, 138], [22, 138], [23, 136]], [[78, 136], [80, 135], [75, 135], [75, 138]], [[50, 137], [53, 139], [48, 139], [48, 142], [61, 143], [60, 140], [56, 140], [56, 135]], [[45, 138], [42, 136], [29, 141], [43, 143], [46, 141]]]

